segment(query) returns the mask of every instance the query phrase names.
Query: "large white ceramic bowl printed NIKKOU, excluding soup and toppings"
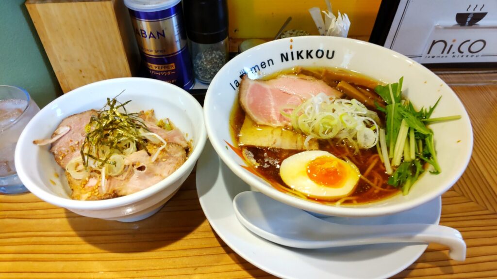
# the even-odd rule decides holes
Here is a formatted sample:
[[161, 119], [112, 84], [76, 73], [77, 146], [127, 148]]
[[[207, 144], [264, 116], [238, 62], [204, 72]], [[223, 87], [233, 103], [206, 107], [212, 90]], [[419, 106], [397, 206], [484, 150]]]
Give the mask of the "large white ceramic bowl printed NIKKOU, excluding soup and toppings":
[[[309, 55], [308, 55], [309, 53]], [[461, 115], [457, 121], [431, 125], [442, 172], [425, 173], [409, 195], [396, 195], [380, 202], [358, 206], [329, 206], [299, 199], [271, 187], [245, 170], [246, 163], [227, 148], [230, 112], [238, 97], [244, 71], [249, 78], [260, 78], [296, 66], [338, 67], [356, 71], [383, 82], [397, 82], [404, 76], [404, 94], [414, 106], [432, 106], [442, 96], [432, 117]], [[228, 167], [251, 187], [285, 204], [308, 211], [337, 216], [375, 216], [412, 209], [447, 191], [464, 172], [473, 148], [471, 123], [456, 94], [438, 76], [413, 60], [370, 43], [337, 37], [295, 37], [254, 47], [227, 63], [214, 77], [204, 102], [207, 135]]]

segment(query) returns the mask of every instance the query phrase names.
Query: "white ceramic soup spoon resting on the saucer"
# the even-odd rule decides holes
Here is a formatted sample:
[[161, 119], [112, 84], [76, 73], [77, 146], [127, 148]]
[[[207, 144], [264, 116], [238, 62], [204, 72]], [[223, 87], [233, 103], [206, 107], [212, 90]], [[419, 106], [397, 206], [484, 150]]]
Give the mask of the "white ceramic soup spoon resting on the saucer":
[[377, 243], [439, 243], [453, 260], [464, 261], [466, 243], [453, 228], [432, 224], [344, 225], [315, 217], [259, 192], [233, 200], [240, 222], [256, 235], [288, 247], [318, 249]]

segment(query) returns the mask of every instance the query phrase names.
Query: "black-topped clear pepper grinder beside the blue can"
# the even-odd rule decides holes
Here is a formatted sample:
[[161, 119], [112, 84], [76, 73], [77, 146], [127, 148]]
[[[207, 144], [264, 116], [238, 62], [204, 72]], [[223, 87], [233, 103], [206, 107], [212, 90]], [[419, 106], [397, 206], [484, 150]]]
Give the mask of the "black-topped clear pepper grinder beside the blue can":
[[228, 62], [227, 0], [183, 0], [195, 78], [210, 83]]

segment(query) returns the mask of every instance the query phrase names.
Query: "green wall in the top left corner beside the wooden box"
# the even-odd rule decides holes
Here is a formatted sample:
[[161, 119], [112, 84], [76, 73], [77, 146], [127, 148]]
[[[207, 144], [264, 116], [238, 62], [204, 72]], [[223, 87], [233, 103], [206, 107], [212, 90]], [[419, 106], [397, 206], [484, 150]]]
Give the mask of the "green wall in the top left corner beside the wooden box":
[[0, 0], [0, 84], [25, 88], [41, 108], [62, 90], [24, 1]]

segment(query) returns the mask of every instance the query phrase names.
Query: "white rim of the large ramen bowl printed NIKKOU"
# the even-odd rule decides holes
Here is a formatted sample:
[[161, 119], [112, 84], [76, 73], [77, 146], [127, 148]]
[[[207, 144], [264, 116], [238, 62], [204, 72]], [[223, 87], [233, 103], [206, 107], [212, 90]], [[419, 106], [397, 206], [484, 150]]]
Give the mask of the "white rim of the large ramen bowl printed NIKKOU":
[[[360, 45], [367, 45], [369, 48], [375, 50], [376, 52], [387, 52], [391, 56], [402, 59], [406, 61], [407, 63], [410, 63], [413, 65], [413, 67], [418, 67], [419, 70], [422, 71], [429, 71], [430, 75], [433, 75], [434, 78], [439, 81], [441, 84], [446, 85], [447, 88], [449, 88], [450, 94], [453, 95], [455, 100], [461, 105], [461, 107], [464, 109], [464, 112], [461, 114], [461, 120], [464, 121], [466, 125], [468, 125], [468, 130], [470, 133], [468, 134], [468, 154], [466, 154], [464, 160], [458, 165], [459, 167], [456, 169], [457, 175], [453, 176], [450, 180], [448, 180], [444, 187], [439, 187], [439, 189], [436, 192], [433, 192], [432, 195], [424, 195], [420, 198], [413, 199], [413, 200], [408, 200], [403, 202], [402, 204], [384, 204], [378, 207], [375, 207], [374, 205], [377, 204], [375, 202], [371, 203], [370, 206], [363, 206], [363, 207], [350, 207], [350, 206], [341, 206], [341, 207], [336, 207], [336, 206], [331, 206], [331, 205], [324, 205], [324, 204], [319, 204], [319, 203], [314, 203], [312, 201], [307, 201], [304, 199], [300, 199], [297, 197], [293, 197], [291, 195], [282, 193], [278, 190], [276, 190], [274, 187], [268, 185], [267, 182], [262, 182], [260, 180], [257, 180], [256, 178], [250, 176], [246, 171], [239, 166], [237, 162], [235, 162], [234, 159], [229, 155], [229, 151], [226, 150], [226, 148], [222, 144], [222, 139], [219, 139], [216, 135], [215, 127], [213, 126], [214, 124], [211, 125], [212, 118], [211, 118], [211, 109], [214, 108], [214, 103], [213, 103], [213, 96], [214, 96], [214, 86], [209, 86], [207, 89], [207, 93], [205, 96], [204, 100], [204, 119], [205, 119], [205, 126], [207, 129], [207, 135], [209, 137], [210, 142], [212, 143], [212, 146], [216, 150], [216, 153], [218, 156], [223, 160], [223, 162], [233, 171], [239, 178], [241, 178], [244, 182], [246, 182], [248, 185], [256, 188], [258, 191], [262, 192], [263, 194], [278, 200], [280, 202], [283, 202], [287, 205], [297, 207], [300, 209], [316, 212], [316, 213], [321, 213], [321, 214], [326, 214], [326, 215], [335, 215], [335, 216], [350, 216], [350, 217], [367, 217], [367, 216], [379, 216], [379, 215], [389, 215], [389, 214], [394, 214], [398, 213], [401, 211], [413, 209], [417, 206], [420, 206], [424, 203], [427, 203], [439, 196], [441, 196], [443, 193], [445, 193], [448, 189], [450, 189], [456, 182], [459, 180], [461, 175], [464, 173], [466, 170], [466, 167], [470, 161], [471, 155], [472, 155], [472, 150], [473, 150], [473, 129], [471, 125], [471, 121], [468, 115], [468, 112], [466, 108], [464, 107], [464, 104], [461, 102], [460, 98], [457, 96], [457, 94], [450, 88], [445, 81], [443, 81], [438, 75], [424, 67], [423, 65], [415, 62], [411, 58], [406, 57], [403, 54], [400, 54], [396, 51], [393, 51], [391, 49], [375, 45], [369, 42], [365, 41], [360, 41], [356, 39], [350, 39], [350, 38], [341, 38], [341, 37], [330, 37], [330, 36], [305, 36], [305, 37], [293, 37], [293, 38], [285, 38], [285, 39], [279, 39], [279, 40], [274, 40], [274, 41], [269, 41], [264, 44], [261, 44], [257, 47], [254, 47], [252, 49], [249, 49], [242, 54], [236, 56], [233, 58], [231, 61], [229, 61], [225, 66], [218, 71], [216, 76], [214, 76], [211, 84], [216, 84], [218, 79], [220, 79], [221, 74], [224, 73], [226, 69], [230, 67], [231, 64], [236, 63], [236, 61], [240, 59], [246, 59], [246, 57], [250, 56], [255, 56], [258, 48], [260, 47], [267, 47], [267, 48], [277, 48], [279, 44], [283, 44], [283, 40], [293, 40], [293, 42], [298, 42], [300, 40], [322, 40], [322, 41], [335, 41], [335, 43], [345, 43], [345, 44], [360, 44]], [[238, 96], [238, 90], [237, 90], [237, 96]], [[384, 201], [384, 200], [381, 200]], [[367, 205], [367, 204], [366, 204]]]

